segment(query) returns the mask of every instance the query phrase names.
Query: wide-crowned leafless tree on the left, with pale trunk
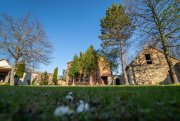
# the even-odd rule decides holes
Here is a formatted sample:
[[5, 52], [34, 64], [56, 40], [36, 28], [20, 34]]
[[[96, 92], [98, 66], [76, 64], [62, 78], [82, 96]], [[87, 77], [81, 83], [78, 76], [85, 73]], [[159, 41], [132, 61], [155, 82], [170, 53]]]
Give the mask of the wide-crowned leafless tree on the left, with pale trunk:
[[0, 46], [13, 59], [10, 85], [14, 85], [15, 66], [25, 60], [29, 67], [48, 64], [52, 46], [39, 21], [30, 15], [0, 16]]

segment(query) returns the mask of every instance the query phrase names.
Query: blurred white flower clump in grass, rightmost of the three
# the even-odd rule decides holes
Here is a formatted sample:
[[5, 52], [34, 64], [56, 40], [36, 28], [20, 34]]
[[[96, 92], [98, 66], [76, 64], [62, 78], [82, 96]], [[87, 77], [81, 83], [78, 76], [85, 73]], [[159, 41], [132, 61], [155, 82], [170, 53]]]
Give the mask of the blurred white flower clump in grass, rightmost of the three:
[[83, 100], [79, 101], [79, 105], [77, 106], [76, 112], [81, 113], [81, 112], [87, 112], [89, 111], [89, 104], [85, 103]]

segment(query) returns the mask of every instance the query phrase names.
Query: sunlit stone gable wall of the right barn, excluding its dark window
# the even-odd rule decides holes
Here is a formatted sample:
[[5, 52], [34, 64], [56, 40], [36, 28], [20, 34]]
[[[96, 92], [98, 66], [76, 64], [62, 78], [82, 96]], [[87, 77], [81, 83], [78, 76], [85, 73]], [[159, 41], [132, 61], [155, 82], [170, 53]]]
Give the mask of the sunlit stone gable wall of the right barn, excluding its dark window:
[[[146, 63], [145, 54], [151, 55], [152, 64]], [[171, 58], [171, 60], [173, 65], [180, 62], [174, 58]], [[154, 48], [148, 47], [144, 49], [131, 63], [131, 67], [135, 84], [156, 85], [171, 83], [164, 54]]]

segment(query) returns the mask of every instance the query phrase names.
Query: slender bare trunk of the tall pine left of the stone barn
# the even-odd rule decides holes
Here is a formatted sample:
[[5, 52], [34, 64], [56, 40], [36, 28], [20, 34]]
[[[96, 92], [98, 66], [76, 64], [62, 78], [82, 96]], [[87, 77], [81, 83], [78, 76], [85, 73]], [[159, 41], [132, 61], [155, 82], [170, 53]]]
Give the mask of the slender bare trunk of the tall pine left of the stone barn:
[[124, 84], [129, 85], [128, 78], [127, 78], [127, 73], [126, 73], [126, 62], [125, 62], [125, 50], [123, 43], [121, 42], [120, 44], [121, 48], [121, 65], [122, 65], [122, 73], [123, 73], [123, 78], [124, 78]]

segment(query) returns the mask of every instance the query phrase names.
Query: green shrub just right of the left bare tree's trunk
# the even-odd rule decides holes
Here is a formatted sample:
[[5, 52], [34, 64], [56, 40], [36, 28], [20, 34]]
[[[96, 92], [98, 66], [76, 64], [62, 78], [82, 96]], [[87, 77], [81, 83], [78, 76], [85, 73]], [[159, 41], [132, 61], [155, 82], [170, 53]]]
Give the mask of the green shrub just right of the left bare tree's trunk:
[[26, 71], [24, 61], [21, 61], [20, 63], [16, 64], [16, 74], [15, 77], [23, 78], [24, 72]]

